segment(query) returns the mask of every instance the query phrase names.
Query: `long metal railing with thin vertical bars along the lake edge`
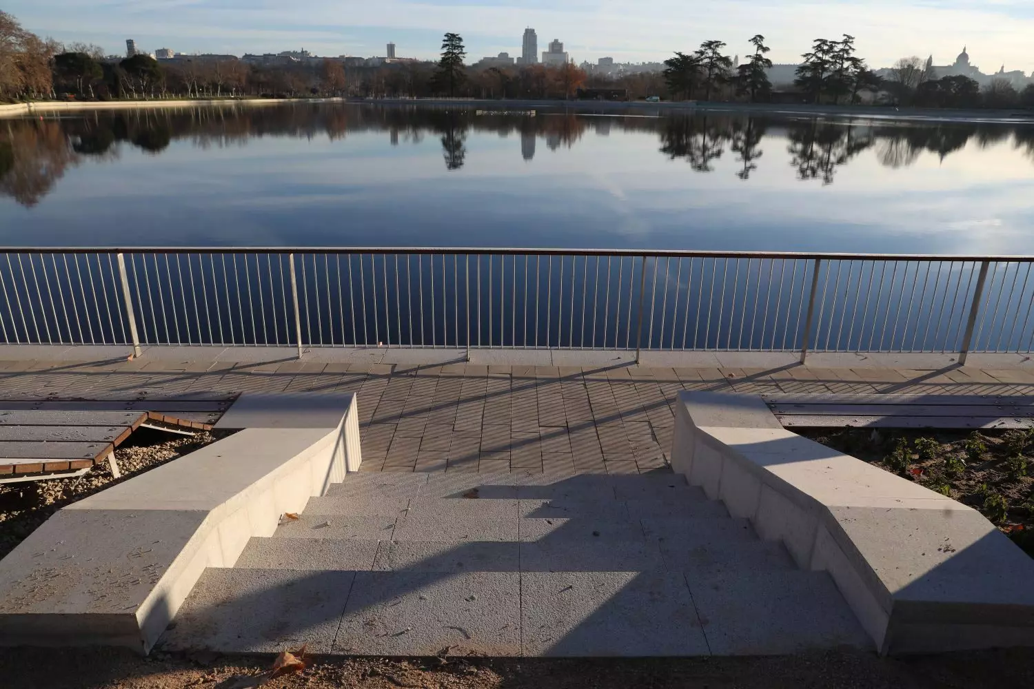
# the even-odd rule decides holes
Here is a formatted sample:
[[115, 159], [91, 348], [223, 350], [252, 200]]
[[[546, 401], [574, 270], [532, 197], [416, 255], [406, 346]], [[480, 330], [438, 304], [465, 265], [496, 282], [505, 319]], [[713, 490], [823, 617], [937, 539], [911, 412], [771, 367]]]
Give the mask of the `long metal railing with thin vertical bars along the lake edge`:
[[0, 250], [8, 344], [1029, 352], [1034, 258]]

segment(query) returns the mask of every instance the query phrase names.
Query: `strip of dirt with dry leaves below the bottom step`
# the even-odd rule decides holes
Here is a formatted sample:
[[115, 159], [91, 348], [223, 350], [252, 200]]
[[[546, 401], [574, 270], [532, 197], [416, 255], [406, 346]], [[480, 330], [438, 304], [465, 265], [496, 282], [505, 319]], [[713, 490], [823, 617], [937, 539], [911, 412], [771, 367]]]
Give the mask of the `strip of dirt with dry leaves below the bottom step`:
[[[5, 689], [233, 689], [235, 678], [269, 667], [272, 657], [141, 658], [129, 651], [6, 649]], [[879, 658], [860, 652], [781, 658], [528, 660], [316, 659], [270, 689], [1012, 689], [1034, 686], [1029, 651]]]

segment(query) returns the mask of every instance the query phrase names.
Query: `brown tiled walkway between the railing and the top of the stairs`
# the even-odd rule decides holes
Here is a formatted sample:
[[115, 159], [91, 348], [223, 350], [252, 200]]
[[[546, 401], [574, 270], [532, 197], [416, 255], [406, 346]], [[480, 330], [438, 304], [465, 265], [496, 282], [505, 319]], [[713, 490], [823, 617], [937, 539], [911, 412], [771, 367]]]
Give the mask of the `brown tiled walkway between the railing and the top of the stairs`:
[[1016, 396], [1034, 394], [1034, 368], [0, 361], [7, 399], [357, 393], [364, 471], [665, 471], [670, 405], [685, 389]]

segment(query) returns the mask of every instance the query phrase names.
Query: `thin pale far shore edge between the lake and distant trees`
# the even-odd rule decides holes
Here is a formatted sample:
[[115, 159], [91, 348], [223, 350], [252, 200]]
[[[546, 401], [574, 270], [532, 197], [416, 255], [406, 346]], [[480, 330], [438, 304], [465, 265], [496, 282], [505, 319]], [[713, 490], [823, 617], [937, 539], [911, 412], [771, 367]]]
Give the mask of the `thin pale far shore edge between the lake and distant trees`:
[[707, 112], [729, 114], [787, 115], [811, 117], [861, 117], [925, 122], [999, 122], [1034, 124], [1034, 111], [1011, 109], [942, 109], [893, 107], [887, 105], [813, 105], [784, 103], [733, 103], [701, 101], [645, 102], [608, 100], [489, 100], [460, 98], [213, 98], [174, 100], [110, 100], [110, 101], [38, 101], [0, 105], [0, 118], [22, 117], [33, 113], [77, 112], [91, 109], [139, 109], [157, 107], [197, 107], [226, 105], [277, 105], [285, 103], [353, 103], [378, 105], [433, 105], [476, 107], [484, 109], [565, 109], [577, 112], [628, 112], [659, 117], [673, 112]]

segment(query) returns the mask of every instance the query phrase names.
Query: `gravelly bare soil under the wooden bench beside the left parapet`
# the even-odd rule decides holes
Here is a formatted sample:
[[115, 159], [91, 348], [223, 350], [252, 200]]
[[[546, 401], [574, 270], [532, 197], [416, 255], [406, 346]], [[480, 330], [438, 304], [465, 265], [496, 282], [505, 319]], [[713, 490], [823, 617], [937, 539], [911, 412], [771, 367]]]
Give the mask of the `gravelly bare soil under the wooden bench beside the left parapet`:
[[121, 478], [115, 478], [108, 463], [101, 462], [75, 478], [0, 484], [0, 558], [14, 550], [51, 514], [65, 505], [183, 457], [231, 433], [199, 431], [193, 436], [179, 436], [138, 429], [115, 449]]

